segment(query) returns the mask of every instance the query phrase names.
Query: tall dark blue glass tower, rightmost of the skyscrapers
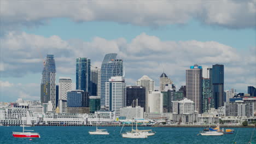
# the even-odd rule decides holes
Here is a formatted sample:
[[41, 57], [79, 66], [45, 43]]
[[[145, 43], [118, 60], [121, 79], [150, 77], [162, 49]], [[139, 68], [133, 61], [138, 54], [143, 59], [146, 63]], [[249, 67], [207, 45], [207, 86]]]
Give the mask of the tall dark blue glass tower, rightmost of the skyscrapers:
[[212, 65], [212, 85], [215, 109], [224, 106], [224, 65]]

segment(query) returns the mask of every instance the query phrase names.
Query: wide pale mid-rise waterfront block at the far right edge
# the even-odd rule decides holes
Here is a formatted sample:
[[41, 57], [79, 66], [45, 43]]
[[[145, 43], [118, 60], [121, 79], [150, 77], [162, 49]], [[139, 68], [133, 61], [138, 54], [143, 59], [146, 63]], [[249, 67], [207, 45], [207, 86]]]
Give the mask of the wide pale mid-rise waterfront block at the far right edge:
[[243, 100], [236, 100], [235, 102], [226, 102], [224, 104], [225, 116], [238, 117], [253, 117], [254, 104], [252, 102], [245, 102]]

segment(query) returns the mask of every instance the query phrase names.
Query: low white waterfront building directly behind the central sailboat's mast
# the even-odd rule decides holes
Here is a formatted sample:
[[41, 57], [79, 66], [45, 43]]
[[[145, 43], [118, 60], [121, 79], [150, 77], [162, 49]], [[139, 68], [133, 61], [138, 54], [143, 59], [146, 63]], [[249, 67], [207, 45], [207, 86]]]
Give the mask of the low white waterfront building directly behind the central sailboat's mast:
[[120, 117], [126, 117], [126, 119], [132, 118], [144, 118], [144, 109], [141, 106], [127, 106], [120, 110]]

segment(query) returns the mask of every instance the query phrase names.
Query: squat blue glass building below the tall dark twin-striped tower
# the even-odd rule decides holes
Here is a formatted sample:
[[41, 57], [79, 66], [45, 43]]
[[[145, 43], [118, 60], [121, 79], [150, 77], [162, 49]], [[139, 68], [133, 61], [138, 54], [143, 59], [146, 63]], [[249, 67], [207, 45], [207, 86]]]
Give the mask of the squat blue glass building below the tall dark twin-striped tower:
[[89, 107], [89, 92], [83, 90], [73, 90], [67, 92], [68, 107]]

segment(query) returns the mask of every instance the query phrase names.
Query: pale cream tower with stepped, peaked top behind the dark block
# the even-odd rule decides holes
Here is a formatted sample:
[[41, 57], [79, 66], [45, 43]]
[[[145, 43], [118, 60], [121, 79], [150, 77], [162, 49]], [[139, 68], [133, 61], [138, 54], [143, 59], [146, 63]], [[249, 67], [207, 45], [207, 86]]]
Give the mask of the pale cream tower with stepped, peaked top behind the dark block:
[[136, 86], [143, 86], [146, 88], [146, 112], [148, 112], [148, 94], [154, 91], [155, 82], [147, 75], [143, 75], [141, 79], [136, 81]]

